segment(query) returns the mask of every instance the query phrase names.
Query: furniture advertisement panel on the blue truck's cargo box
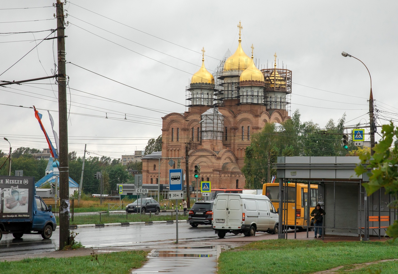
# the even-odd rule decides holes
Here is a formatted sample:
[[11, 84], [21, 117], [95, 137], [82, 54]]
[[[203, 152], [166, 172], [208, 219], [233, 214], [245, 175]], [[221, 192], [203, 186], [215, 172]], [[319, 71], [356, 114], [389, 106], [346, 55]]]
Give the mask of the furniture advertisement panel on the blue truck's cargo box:
[[32, 218], [34, 177], [0, 176], [0, 221]]

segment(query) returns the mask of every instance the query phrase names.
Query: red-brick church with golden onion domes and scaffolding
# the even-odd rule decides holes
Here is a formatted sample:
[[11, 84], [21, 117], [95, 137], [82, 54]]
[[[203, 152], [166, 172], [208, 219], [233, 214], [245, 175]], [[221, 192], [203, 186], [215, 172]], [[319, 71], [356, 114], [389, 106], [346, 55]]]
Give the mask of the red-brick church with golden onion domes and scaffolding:
[[252, 134], [290, 119], [291, 70], [277, 68], [276, 53], [274, 67], [259, 70], [253, 45], [251, 58], [242, 49], [240, 22], [238, 27], [238, 48], [214, 76], [202, 49], [202, 66], [186, 88], [188, 111], [162, 117], [162, 152], [142, 158], [144, 184], [168, 184], [169, 169], [180, 163], [189, 185], [200, 165], [199, 181], [210, 181], [211, 188], [244, 188], [241, 169]]

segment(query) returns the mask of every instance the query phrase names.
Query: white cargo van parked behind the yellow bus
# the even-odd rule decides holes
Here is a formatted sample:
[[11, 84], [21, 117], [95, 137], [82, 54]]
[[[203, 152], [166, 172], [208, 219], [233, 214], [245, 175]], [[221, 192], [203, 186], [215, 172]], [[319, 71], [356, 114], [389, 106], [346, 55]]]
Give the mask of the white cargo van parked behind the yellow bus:
[[254, 236], [256, 231], [278, 233], [279, 215], [265, 195], [218, 194], [213, 205], [213, 229], [224, 238], [227, 232]]

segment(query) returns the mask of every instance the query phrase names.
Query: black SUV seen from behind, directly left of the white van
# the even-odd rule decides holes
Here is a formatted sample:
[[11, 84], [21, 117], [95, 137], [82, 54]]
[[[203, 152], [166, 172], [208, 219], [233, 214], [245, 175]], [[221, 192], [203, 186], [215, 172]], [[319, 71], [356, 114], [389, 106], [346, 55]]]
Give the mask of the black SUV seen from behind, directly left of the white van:
[[211, 225], [213, 217], [213, 204], [214, 200], [197, 201], [191, 207], [188, 214], [188, 221], [192, 227], [198, 225]]

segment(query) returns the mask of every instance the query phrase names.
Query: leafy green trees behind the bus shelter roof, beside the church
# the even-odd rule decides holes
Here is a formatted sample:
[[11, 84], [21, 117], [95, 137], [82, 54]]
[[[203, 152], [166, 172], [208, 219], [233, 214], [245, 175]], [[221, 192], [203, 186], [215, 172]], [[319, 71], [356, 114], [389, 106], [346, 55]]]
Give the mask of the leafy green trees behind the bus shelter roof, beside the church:
[[[266, 124], [259, 134], [252, 135], [252, 144], [246, 148], [242, 172], [246, 188], [259, 189], [267, 183], [268, 157], [271, 165], [278, 156], [344, 156], [341, 138], [345, 114], [337, 121], [330, 119], [325, 128], [313, 121], [300, 122], [300, 112], [282, 125]], [[351, 146], [351, 148], [353, 145]], [[276, 170], [270, 170], [270, 179]]]

